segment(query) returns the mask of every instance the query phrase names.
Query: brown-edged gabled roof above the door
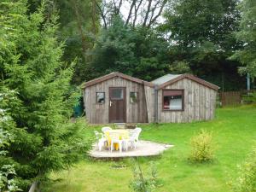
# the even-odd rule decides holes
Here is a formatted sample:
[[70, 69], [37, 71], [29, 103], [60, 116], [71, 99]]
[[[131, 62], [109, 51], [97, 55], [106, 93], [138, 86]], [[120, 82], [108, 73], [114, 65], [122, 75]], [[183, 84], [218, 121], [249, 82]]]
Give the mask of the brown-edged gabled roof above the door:
[[82, 89], [84, 89], [85, 87], [89, 87], [93, 84], [98, 84], [98, 83], [101, 83], [102, 81], [106, 81], [108, 79], [112, 79], [114, 77], [119, 77], [119, 78], [123, 78], [123, 79], [127, 79], [127, 80], [130, 80], [132, 82], [136, 82], [137, 84], [146, 84], [150, 87], [153, 87], [154, 84], [148, 82], [148, 81], [143, 81], [142, 79], [137, 79], [137, 78], [133, 78], [129, 75], [125, 75], [123, 73], [119, 73], [119, 72], [113, 72], [113, 73], [109, 73], [107, 75], [104, 75], [100, 78], [97, 78], [97, 79], [92, 79], [90, 81], [87, 81], [85, 82], [84, 84], [82, 84]]

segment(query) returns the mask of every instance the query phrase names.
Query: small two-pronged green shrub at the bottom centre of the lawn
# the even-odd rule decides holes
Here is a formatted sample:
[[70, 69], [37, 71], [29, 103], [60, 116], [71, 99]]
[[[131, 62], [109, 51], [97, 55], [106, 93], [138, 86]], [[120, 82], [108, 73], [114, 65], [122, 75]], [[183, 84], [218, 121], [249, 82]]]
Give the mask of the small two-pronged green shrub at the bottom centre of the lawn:
[[135, 192], [151, 192], [159, 186], [159, 179], [157, 179], [157, 171], [154, 162], [150, 162], [148, 174], [144, 175], [142, 167], [138, 160], [132, 162], [133, 179], [130, 183], [130, 188]]

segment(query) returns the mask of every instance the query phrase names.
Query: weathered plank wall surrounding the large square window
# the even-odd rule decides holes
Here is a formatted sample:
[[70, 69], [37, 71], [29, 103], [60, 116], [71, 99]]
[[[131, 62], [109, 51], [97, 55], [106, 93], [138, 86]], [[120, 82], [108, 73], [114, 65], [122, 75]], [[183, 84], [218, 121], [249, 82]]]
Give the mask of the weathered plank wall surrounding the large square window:
[[190, 79], [181, 79], [163, 89], [184, 90], [183, 111], [162, 110], [162, 90], [158, 91], [158, 121], [159, 122], [192, 122], [214, 118], [217, 91]]

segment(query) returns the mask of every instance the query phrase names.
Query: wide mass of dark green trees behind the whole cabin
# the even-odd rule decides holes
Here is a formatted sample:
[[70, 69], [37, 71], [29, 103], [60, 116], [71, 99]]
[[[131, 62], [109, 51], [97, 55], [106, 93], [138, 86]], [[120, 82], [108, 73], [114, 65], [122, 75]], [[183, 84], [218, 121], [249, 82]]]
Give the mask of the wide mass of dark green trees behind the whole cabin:
[[[31, 12], [40, 2], [29, 1]], [[62, 58], [67, 62], [76, 58], [77, 62], [73, 84], [113, 71], [146, 80], [166, 73], [194, 73], [218, 84], [221, 90], [241, 90], [246, 85], [246, 78], [237, 73], [242, 61], [238, 55], [230, 60], [236, 49], [242, 49], [242, 40], [237, 42], [234, 34], [241, 15], [241, 9], [236, 9], [238, 2], [169, 1], [164, 9], [165, 23], [154, 23], [154, 27], [143, 26], [139, 20], [135, 26], [125, 25], [125, 15], [116, 12], [118, 4], [96, 0], [56, 0], [47, 6], [47, 15], [53, 8], [59, 9], [58, 40], [67, 39]], [[96, 4], [105, 8], [105, 14], [110, 10], [105, 15], [106, 28], [103, 22], [101, 28]]]

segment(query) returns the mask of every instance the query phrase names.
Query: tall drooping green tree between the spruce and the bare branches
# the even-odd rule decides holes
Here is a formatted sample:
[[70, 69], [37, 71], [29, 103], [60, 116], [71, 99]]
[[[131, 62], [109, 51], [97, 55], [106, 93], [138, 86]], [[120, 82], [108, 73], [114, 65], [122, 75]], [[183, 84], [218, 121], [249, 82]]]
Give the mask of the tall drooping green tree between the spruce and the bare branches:
[[[29, 13], [38, 8], [42, 0], [28, 0]], [[74, 67], [73, 84], [81, 84], [87, 73], [91, 57], [87, 54], [94, 47], [97, 34], [101, 28], [100, 13], [96, 4], [100, 0], [50, 0], [46, 15], [58, 9], [60, 15], [58, 40], [64, 41], [63, 60], [72, 62]]]

